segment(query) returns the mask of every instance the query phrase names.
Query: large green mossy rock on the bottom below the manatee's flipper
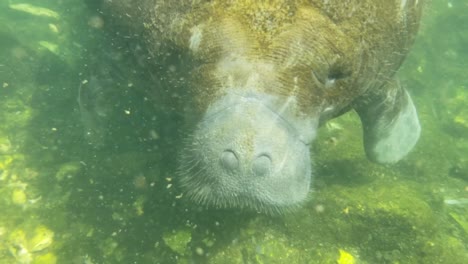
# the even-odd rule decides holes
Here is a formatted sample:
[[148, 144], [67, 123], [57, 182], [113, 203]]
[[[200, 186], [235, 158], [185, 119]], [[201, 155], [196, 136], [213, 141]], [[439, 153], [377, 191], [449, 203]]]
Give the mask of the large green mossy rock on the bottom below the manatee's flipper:
[[401, 181], [333, 185], [317, 196], [311, 208], [287, 217], [291, 236], [358, 249], [360, 261], [408, 263], [436, 230], [430, 206]]

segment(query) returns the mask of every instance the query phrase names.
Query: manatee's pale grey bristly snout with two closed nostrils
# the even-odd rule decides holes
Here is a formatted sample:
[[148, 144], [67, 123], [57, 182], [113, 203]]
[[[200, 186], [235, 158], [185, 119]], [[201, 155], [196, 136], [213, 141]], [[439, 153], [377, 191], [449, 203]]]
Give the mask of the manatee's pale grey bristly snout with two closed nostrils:
[[208, 109], [180, 153], [179, 178], [190, 199], [282, 212], [307, 197], [310, 140], [288, 111], [272, 109], [261, 96], [226, 96]]

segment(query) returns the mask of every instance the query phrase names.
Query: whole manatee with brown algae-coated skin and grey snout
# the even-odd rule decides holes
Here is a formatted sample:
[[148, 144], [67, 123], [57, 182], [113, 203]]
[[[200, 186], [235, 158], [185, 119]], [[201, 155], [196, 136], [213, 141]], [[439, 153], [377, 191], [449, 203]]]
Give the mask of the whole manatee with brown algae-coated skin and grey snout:
[[[355, 110], [367, 156], [394, 163], [416, 144], [413, 102], [395, 78], [420, 0], [104, 1], [145, 41], [155, 89], [185, 116], [180, 183], [196, 202], [265, 212], [309, 192], [321, 124]], [[162, 84], [164, 83], [164, 84]]]

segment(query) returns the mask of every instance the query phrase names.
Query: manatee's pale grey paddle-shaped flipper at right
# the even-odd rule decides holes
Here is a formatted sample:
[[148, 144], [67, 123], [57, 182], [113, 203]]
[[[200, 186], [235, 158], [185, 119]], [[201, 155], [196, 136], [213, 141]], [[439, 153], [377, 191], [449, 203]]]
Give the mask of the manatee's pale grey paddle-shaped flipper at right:
[[419, 139], [416, 108], [397, 79], [359, 98], [354, 109], [361, 118], [367, 157], [374, 162], [399, 161]]

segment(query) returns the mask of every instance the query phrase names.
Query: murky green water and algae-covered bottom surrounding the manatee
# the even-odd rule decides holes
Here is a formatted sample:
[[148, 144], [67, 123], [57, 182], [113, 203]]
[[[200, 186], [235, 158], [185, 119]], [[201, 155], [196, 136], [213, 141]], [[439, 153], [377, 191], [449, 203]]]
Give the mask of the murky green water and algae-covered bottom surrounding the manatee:
[[[410, 155], [370, 163], [356, 115], [333, 120], [312, 199], [276, 217], [180, 197], [143, 73], [121, 76], [102, 123], [83, 118], [93, 58], [119, 45], [101, 22], [79, 0], [0, 2], [0, 264], [466, 263], [468, 1], [432, 1], [399, 73], [423, 127]], [[87, 126], [112, 131], [104, 147]]]

